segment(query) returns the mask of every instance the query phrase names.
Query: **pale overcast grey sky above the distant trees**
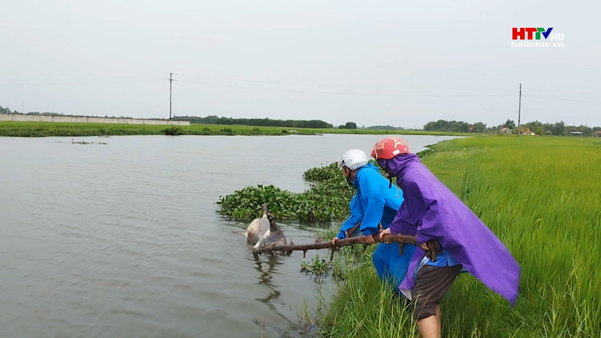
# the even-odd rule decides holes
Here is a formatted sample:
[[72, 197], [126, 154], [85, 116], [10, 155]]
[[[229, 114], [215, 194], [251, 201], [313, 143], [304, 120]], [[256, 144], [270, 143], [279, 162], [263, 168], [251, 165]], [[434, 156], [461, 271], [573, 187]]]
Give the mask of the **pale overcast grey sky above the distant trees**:
[[[0, 106], [96, 116], [601, 126], [596, 1], [4, 1]], [[553, 27], [563, 47], [512, 47]], [[524, 42], [524, 41], [517, 41]], [[22, 108], [23, 107], [23, 108]]]

